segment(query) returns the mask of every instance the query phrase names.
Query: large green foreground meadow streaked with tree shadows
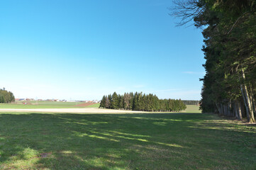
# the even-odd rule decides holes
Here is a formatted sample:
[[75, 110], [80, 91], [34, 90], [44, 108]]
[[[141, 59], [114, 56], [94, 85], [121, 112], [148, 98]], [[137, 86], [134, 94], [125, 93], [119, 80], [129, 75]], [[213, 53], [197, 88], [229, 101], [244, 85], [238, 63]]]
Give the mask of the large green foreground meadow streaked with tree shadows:
[[255, 141], [202, 113], [1, 113], [0, 169], [255, 169]]

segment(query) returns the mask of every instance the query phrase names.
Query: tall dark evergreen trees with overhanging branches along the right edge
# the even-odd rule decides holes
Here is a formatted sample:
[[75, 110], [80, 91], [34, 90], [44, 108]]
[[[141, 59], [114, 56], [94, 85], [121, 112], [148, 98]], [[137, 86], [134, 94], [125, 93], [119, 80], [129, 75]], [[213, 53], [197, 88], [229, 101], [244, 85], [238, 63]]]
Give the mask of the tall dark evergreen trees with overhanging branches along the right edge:
[[256, 1], [175, 1], [179, 25], [194, 21], [204, 35], [206, 75], [201, 110], [247, 118], [256, 115]]

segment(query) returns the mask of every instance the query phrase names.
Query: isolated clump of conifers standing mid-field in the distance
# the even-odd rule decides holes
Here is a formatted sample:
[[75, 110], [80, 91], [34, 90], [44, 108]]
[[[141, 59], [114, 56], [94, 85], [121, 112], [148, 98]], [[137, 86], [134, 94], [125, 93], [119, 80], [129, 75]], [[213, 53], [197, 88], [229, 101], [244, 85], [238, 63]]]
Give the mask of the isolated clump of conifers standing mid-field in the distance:
[[123, 95], [116, 94], [103, 96], [100, 108], [123, 109], [131, 111], [183, 111], [187, 108], [184, 102], [179, 99], [159, 99], [153, 94], [143, 94], [136, 92], [135, 94], [125, 93]]

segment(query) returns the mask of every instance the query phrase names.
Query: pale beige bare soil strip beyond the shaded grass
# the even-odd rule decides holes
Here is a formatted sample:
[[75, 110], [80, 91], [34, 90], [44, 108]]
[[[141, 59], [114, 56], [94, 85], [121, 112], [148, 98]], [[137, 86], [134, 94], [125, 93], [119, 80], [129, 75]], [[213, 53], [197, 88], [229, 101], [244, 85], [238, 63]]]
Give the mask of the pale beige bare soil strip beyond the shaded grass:
[[49, 112], [49, 113], [147, 113], [143, 111], [124, 111], [104, 108], [1, 108], [0, 112]]

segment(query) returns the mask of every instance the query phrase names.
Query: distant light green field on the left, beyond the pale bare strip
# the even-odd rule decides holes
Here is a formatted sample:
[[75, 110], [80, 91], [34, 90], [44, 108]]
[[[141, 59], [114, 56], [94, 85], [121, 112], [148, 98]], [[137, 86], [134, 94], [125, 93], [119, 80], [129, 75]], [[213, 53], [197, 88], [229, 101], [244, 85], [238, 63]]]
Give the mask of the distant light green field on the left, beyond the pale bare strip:
[[[23, 101], [24, 102], [24, 101]], [[76, 106], [81, 102], [56, 102], [56, 101], [29, 101], [29, 104], [18, 103], [0, 103], [0, 108], [99, 108], [99, 103], [91, 106]]]

